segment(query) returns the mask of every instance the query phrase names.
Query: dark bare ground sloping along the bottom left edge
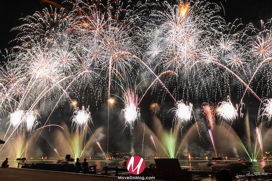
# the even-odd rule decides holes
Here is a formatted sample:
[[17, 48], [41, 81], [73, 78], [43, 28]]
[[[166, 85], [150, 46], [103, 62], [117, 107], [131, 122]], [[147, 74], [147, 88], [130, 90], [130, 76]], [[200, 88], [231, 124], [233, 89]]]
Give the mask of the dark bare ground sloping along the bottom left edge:
[[[77, 174], [66, 172], [50, 172], [42, 170], [28, 170], [18, 168], [2, 168], [0, 167], [0, 181], [112, 181], [118, 180], [118, 177], [111, 176], [94, 176], [91, 174]], [[130, 180], [131, 181], [131, 180]]]

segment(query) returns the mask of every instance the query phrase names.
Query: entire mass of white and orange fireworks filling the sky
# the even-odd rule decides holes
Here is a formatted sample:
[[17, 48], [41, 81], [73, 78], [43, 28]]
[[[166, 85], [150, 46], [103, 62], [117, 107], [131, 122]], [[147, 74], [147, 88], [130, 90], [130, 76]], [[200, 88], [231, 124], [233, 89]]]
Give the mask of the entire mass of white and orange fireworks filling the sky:
[[[17, 33], [12, 47], [2, 52], [0, 124], [6, 142], [0, 151], [14, 144], [16, 157], [27, 157], [42, 136], [60, 157], [60, 148], [51, 145], [48, 133], [64, 129], [60, 121], [70, 124], [70, 119], [71, 135], [79, 142], [70, 146], [74, 157], [88, 154], [86, 143], [93, 139], [93, 149], [108, 159], [115, 140], [112, 129], [122, 136], [127, 127], [129, 144], [141, 135], [142, 148], [151, 140], [159, 155], [153, 135], [146, 140], [142, 132], [134, 131], [142, 122], [149, 124], [148, 108], [142, 108], [150, 105], [147, 101], [152, 102], [150, 113], [164, 120], [163, 128], [170, 125], [174, 130], [165, 138], [168, 157], [176, 157], [175, 146], [182, 139], [176, 133], [182, 135], [190, 123], [200, 141], [206, 143], [203, 135], [208, 133], [217, 156], [215, 113], [226, 124], [235, 122], [238, 110], [242, 115], [242, 106], [250, 106], [242, 103], [246, 97], [260, 104], [257, 121], [270, 122], [272, 19], [261, 21], [261, 28], [242, 26], [238, 20], [227, 24], [220, 16], [222, 6], [206, 0], [41, 2], [47, 8], [21, 18], [23, 23], [12, 29]], [[234, 107], [230, 97], [240, 104]], [[201, 106], [207, 129], [198, 126], [196, 100], [219, 103], [217, 108], [213, 103]], [[113, 120], [116, 113], [123, 123]], [[97, 126], [105, 127], [99, 131], [107, 135], [106, 141]], [[261, 129], [255, 132], [263, 154]], [[22, 139], [24, 146], [19, 144]]]

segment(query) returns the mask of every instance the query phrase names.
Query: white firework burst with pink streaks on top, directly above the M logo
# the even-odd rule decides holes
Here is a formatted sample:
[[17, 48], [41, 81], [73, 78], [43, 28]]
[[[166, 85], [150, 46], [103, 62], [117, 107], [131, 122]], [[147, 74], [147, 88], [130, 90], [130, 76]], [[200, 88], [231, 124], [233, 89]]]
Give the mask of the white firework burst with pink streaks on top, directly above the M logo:
[[130, 124], [131, 134], [131, 153], [134, 153], [134, 122], [140, 122], [140, 108], [138, 108], [138, 95], [135, 90], [126, 88], [122, 91], [124, 109], [121, 110], [121, 115], [125, 120], [125, 125]]

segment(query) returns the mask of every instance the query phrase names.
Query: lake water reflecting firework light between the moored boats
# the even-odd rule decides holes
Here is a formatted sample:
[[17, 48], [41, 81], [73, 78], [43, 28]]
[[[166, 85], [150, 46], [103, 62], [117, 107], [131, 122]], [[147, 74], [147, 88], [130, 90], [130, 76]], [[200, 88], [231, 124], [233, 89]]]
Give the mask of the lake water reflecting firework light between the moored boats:
[[[4, 160], [0, 160], [1, 164]], [[35, 159], [31, 159], [28, 160], [26, 163], [28, 164], [36, 164], [36, 163], [54, 163], [56, 160], [35, 160]], [[102, 160], [102, 159], [92, 159], [92, 160], [87, 160], [89, 165], [96, 165], [97, 169], [101, 169], [105, 166], [117, 166], [118, 162], [121, 160]], [[148, 160], [148, 159], [144, 159], [145, 161], [145, 165], [146, 167], [149, 166], [150, 163], [155, 163], [154, 160]], [[235, 160], [228, 160], [228, 161], [235, 161]], [[199, 162], [207, 162], [206, 160], [180, 160], [180, 165], [183, 168], [187, 168], [189, 170], [200, 170], [200, 171], [212, 171], [209, 167], [203, 168], [203, 167], [199, 167], [198, 163]], [[20, 162], [22, 163], [22, 162]], [[13, 160], [8, 160], [8, 164], [10, 165], [10, 167], [18, 167], [18, 162], [15, 162]], [[269, 165], [272, 164], [272, 160], [258, 160], [253, 162], [253, 165], [251, 167], [249, 167], [249, 169], [244, 170], [244, 172], [246, 171], [251, 171], [253, 172], [260, 172], [263, 173], [264, 170], [262, 169], [265, 165]], [[21, 167], [22, 165], [20, 165], [19, 167]]]

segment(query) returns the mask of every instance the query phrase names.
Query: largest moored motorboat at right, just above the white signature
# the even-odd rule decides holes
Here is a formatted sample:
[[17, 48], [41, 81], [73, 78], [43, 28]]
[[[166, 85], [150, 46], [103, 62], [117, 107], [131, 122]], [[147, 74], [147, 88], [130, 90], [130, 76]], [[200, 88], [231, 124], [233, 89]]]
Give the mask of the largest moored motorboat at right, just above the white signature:
[[230, 171], [241, 171], [248, 168], [248, 166], [242, 163], [224, 161], [219, 164], [213, 164], [211, 168], [212, 170], [221, 170], [222, 168], [225, 168]]

